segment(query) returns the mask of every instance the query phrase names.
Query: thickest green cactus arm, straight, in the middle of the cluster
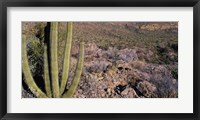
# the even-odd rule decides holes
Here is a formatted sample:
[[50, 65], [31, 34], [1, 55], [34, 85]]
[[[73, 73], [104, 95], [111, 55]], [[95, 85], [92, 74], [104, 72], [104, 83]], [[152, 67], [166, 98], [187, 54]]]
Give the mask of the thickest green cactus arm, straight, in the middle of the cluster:
[[58, 81], [58, 60], [57, 60], [57, 46], [58, 46], [58, 22], [51, 22], [50, 26], [50, 65], [51, 65], [51, 80], [53, 97], [60, 96], [59, 81]]

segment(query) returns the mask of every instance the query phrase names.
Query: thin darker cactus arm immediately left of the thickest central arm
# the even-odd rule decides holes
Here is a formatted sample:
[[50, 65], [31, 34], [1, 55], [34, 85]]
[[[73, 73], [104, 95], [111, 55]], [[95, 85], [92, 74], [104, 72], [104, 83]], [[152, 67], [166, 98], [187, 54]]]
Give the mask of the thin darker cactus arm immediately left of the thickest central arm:
[[51, 85], [49, 78], [49, 65], [48, 65], [48, 57], [47, 57], [47, 44], [44, 44], [44, 84], [45, 90], [48, 97], [52, 97], [51, 94]]

